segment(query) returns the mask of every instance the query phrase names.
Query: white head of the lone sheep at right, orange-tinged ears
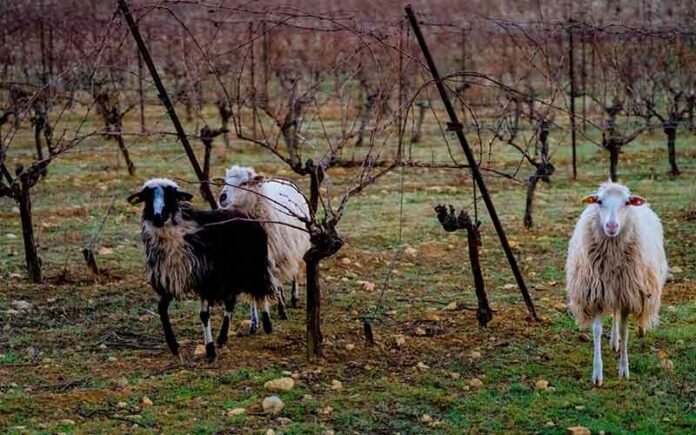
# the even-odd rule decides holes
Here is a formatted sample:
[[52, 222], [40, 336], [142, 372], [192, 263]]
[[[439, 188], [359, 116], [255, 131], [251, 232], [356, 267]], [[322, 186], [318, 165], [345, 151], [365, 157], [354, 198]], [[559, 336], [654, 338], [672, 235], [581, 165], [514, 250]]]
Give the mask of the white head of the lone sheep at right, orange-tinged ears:
[[645, 199], [631, 195], [625, 186], [605, 183], [597, 193], [584, 197], [582, 202], [598, 207], [598, 224], [602, 231], [607, 237], [616, 237], [621, 233], [629, 207], [643, 205]]

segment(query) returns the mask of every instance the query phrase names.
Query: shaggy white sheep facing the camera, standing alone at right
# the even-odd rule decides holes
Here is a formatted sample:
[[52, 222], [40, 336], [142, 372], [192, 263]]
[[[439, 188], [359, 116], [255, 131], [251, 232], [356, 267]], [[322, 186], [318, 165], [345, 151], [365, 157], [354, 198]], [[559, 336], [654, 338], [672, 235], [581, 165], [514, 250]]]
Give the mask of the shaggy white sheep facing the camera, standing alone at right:
[[662, 224], [642, 197], [607, 182], [583, 202], [568, 247], [568, 307], [581, 327], [592, 324], [592, 382], [600, 386], [602, 316], [613, 316], [611, 347], [621, 352], [619, 377], [628, 378], [628, 315], [640, 333], [657, 325], [668, 267]]

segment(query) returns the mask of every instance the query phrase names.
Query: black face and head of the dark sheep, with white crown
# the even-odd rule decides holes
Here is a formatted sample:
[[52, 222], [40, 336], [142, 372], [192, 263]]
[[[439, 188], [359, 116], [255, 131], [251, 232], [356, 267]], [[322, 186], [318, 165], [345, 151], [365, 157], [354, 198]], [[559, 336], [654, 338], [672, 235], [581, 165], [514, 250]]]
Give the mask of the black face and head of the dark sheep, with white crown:
[[191, 198], [193, 195], [180, 191], [173, 181], [156, 178], [145, 183], [140, 192], [130, 195], [128, 202], [133, 205], [145, 203], [143, 222], [152, 222], [161, 228], [176, 215], [179, 201], [190, 201]]

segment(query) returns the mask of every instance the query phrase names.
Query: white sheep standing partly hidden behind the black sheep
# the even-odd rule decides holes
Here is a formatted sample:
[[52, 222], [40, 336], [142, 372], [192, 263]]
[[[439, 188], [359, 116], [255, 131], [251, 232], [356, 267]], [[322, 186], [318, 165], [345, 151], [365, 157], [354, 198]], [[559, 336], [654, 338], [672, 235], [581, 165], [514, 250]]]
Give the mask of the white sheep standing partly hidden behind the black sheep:
[[[275, 275], [292, 282], [292, 306], [297, 304], [297, 276], [304, 254], [310, 248], [303, 219], [309, 216], [307, 199], [293, 182], [257, 175], [253, 168], [232, 166], [225, 175], [220, 206], [257, 219], [268, 234], [268, 252]], [[285, 296], [278, 289], [278, 308], [285, 317]], [[252, 304], [252, 329], [255, 319]]]

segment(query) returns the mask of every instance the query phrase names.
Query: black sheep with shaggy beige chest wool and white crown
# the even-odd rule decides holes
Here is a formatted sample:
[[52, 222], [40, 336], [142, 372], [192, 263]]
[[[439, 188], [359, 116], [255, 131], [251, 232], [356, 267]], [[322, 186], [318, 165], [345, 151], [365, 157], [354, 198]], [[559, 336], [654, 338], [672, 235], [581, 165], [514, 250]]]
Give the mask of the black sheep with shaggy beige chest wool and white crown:
[[[164, 336], [172, 354], [179, 344], [169, 321], [168, 307], [174, 298], [196, 294], [201, 299], [208, 361], [215, 360], [210, 331], [210, 306], [225, 305], [219, 346], [227, 342], [230, 318], [237, 296], [247, 293], [256, 301], [273, 297], [276, 278], [268, 260], [266, 232], [248, 216], [224, 209], [201, 211], [189, 201], [192, 195], [179, 190], [165, 178], [155, 178], [140, 192], [128, 197], [130, 204], [144, 203], [142, 239], [147, 256], [147, 273], [152, 288], [160, 295], [158, 311]], [[268, 304], [263, 328], [272, 330]]]

